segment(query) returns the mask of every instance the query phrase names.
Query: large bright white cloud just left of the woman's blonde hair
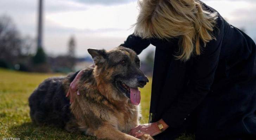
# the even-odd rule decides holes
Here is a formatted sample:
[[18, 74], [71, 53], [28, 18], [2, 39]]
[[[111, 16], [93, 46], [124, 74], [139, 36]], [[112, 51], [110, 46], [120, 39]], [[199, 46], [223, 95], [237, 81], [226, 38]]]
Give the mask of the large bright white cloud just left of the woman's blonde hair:
[[125, 5], [92, 5], [83, 11], [51, 13], [45, 16], [46, 22], [58, 26], [77, 29], [117, 28], [129, 29], [136, 22], [138, 9], [136, 2]]

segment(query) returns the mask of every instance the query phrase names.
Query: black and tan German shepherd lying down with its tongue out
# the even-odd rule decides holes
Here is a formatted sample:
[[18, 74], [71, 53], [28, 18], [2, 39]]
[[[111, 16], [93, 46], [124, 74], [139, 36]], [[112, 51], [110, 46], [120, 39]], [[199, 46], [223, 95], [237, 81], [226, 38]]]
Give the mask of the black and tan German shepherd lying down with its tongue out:
[[[88, 49], [95, 67], [84, 69], [77, 81], [80, 95], [65, 97], [77, 73], [48, 78], [31, 94], [30, 117], [69, 132], [83, 131], [100, 139], [138, 140], [127, 133], [139, 125], [140, 91], [148, 82], [140, 59], [128, 48]], [[143, 135], [140, 139], [152, 139]]]

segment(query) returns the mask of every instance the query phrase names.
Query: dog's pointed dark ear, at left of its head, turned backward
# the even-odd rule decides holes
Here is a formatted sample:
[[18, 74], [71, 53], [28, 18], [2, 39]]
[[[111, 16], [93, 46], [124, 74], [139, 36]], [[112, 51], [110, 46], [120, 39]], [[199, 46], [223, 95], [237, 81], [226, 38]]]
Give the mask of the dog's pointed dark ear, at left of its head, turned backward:
[[107, 52], [104, 49], [98, 50], [98, 49], [89, 48], [87, 50], [88, 50], [89, 54], [91, 55], [95, 65], [104, 63], [104, 61], [107, 58]]

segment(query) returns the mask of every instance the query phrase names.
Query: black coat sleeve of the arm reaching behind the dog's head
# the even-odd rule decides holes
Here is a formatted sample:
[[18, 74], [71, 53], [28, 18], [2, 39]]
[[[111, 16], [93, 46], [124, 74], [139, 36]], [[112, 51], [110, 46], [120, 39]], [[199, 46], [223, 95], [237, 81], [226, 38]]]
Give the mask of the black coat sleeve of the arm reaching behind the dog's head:
[[149, 46], [149, 44], [150, 44], [149, 39], [142, 39], [141, 37], [135, 36], [132, 34], [132, 35], [129, 35], [127, 37], [127, 40], [124, 41], [124, 43], [121, 44], [120, 46], [130, 48], [134, 50], [137, 55], [139, 55], [142, 50], [146, 49]]

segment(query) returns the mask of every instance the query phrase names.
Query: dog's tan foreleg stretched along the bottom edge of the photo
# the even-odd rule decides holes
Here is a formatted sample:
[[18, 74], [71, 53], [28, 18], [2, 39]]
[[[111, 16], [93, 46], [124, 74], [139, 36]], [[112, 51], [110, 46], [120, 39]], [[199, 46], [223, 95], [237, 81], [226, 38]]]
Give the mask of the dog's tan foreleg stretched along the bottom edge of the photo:
[[100, 139], [108, 140], [139, 140], [131, 135], [123, 133], [115, 128], [111, 124], [104, 124], [100, 126], [95, 132], [94, 135]]

